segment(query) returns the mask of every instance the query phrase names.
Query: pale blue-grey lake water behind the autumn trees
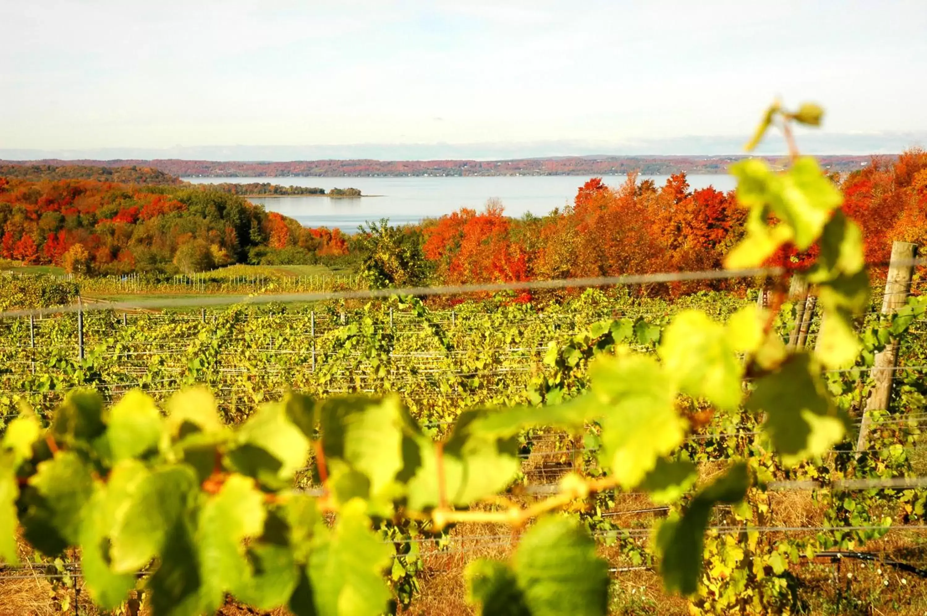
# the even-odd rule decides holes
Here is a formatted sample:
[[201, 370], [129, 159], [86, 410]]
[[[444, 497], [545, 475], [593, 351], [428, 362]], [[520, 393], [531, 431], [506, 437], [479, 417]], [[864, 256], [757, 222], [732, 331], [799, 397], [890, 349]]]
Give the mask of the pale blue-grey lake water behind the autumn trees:
[[[657, 186], [667, 181], [666, 175], [644, 175]], [[505, 213], [520, 218], [527, 212], [536, 216], [565, 207], [573, 201], [577, 190], [590, 176], [489, 176], [489, 177], [404, 177], [404, 178], [184, 178], [194, 183], [271, 182], [284, 186], [317, 186], [359, 188], [363, 196], [357, 199], [332, 199], [326, 196], [251, 197], [267, 211], [279, 212], [309, 227], [328, 227], [354, 233], [367, 220], [389, 219], [392, 224], [418, 222], [437, 218], [461, 207], [482, 209], [486, 200], [498, 197]], [[618, 186], [625, 176], [605, 176], [604, 182]], [[730, 175], [690, 175], [693, 189], [714, 186], [728, 191], [734, 187]]]

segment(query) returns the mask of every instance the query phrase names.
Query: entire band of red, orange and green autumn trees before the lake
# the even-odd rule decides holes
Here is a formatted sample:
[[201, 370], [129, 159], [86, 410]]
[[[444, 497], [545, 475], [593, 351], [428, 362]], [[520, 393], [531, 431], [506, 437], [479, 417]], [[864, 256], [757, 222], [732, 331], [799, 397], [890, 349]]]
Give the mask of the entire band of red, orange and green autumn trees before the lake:
[[[490, 200], [482, 211], [405, 227], [375, 222], [345, 234], [305, 228], [225, 186], [178, 183], [144, 168], [87, 169], [2, 169], [0, 258], [88, 274], [165, 275], [338, 261], [399, 285], [707, 270], [721, 267], [742, 238], [746, 211], [733, 192], [690, 189], [684, 173], [656, 185], [630, 172], [617, 185], [586, 182], [570, 207], [542, 218], [508, 218], [504, 204]], [[49, 179], [65, 172], [90, 179]], [[833, 177], [844, 212], [863, 227], [870, 262], [886, 260], [892, 240], [927, 242], [927, 153], [873, 159]]]

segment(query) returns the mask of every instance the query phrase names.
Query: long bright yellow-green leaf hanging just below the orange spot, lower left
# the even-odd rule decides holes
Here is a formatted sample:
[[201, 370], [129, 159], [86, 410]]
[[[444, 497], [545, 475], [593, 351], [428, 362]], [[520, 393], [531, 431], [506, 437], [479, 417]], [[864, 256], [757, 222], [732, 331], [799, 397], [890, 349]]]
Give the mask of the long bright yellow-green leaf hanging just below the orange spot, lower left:
[[264, 497], [254, 480], [238, 474], [229, 475], [219, 493], [202, 506], [196, 543], [202, 566], [203, 610], [218, 610], [225, 592], [248, 579], [244, 541], [260, 535], [265, 517]]

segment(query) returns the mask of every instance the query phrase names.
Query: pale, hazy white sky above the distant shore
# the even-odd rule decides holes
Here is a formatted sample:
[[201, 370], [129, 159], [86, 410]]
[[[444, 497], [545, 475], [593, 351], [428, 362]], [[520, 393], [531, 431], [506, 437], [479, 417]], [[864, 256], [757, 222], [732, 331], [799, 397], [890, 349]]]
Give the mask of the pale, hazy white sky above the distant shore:
[[825, 107], [806, 151], [927, 145], [924, 0], [30, 0], [0, 23], [4, 158], [731, 154], [777, 96]]

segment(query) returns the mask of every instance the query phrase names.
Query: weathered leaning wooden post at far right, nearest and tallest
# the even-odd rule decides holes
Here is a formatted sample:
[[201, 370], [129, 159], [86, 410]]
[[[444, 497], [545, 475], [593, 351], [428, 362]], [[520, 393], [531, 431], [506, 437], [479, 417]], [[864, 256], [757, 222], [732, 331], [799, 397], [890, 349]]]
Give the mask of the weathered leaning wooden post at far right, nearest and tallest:
[[[914, 273], [914, 258], [917, 256], [918, 246], [908, 242], [892, 243], [892, 258], [889, 262], [888, 278], [885, 280], [885, 295], [882, 299], [882, 313], [889, 315], [898, 308], [902, 308], [908, 301], [911, 290], [911, 275]], [[870, 416], [872, 410], [888, 409], [892, 397], [892, 376], [895, 372], [895, 363], [898, 360], [898, 345], [890, 342], [883, 351], [875, 356], [872, 366], [872, 387], [870, 398], [866, 402], [866, 412], [859, 426], [857, 451], [866, 448], [866, 438], [870, 431]]]

